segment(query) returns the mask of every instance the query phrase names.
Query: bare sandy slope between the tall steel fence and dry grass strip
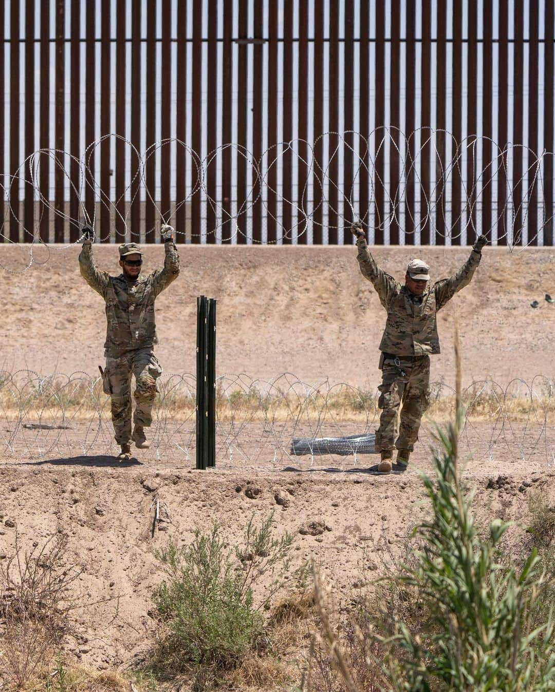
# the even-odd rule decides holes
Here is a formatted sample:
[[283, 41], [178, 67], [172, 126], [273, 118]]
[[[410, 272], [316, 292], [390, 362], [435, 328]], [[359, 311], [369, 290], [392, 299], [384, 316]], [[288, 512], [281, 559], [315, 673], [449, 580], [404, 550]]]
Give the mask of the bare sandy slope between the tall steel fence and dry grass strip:
[[[0, 264], [17, 271], [28, 251], [2, 246]], [[385, 311], [360, 274], [355, 248], [189, 245], [179, 251], [182, 273], [157, 301], [157, 353], [166, 372], [195, 372], [195, 297], [204, 294], [218, 299], [218, 374], [269, 379], [294, 372], [310, 383], [328, 376], [370, 390], [378, 385]], [[35, 248], [28, 271], [3, 271], [4, 368], [98, 372], [103, 303], [80, 277], [78, 253], [77, 247]], [[95, 246], [95, 253], [101, 268], [118, 272], [116, 248]], [[441, 278], [466, 260], [468, 248], [376, 248], [374, 254], [399, 280], [414, 255]], [[162, 258], [162, 248], [148, 248], [144, 271]], [[455, 320], [467, 383], [553, 376], [555, 305], [545, 302], [545, 293], [555, 295], [553, 248], [486, 248], [473, 283], [439, 315], [443, 354], [432, 359], [432, 380], [452, 383]]]

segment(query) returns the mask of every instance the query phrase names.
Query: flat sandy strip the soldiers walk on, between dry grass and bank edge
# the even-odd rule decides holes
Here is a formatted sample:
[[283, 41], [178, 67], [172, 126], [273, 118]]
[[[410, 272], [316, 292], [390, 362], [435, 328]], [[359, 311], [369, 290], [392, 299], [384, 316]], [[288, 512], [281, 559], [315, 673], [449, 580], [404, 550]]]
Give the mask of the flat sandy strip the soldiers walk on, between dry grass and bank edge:
[[[119, 448], [109, 419], [71, 424], [68, 429], [26, 429], [14, 423], [0, 427], [0, 464], [34, 464], [36, 466], [105, 466], [114, 462]], [[279, 473], [325, 469], [339, 472], [364, 471], [376, 464], [375, 454], [350, 455], [303, 454], [292, 449], [293, 438], [345, 437], [372, 433], [377, 423], [353, 421], [324, 423], [318, 430], [292, 421], [243, 421], [218, 424], [215, 436], [216, 466], [224, 471], [248, 469], [253, 473]], [[419, 433], [411, 462], [416, 468], [431, 470], [430, 448], [437, 446], [434, 423], [425, 421]], [[191, 469], [195, 466], [195, 421], [183, 423], [158, 421], [149, 431], [152, 447], [136, 451], [132, 465], [143, 464], [157, 470]], [[555, 425], [545, 421], [466, 421], [461, 432], [461, 453], [468, 462], [468, 471], [508, 473], [516, 468], [541, 469], [555, 465]]]

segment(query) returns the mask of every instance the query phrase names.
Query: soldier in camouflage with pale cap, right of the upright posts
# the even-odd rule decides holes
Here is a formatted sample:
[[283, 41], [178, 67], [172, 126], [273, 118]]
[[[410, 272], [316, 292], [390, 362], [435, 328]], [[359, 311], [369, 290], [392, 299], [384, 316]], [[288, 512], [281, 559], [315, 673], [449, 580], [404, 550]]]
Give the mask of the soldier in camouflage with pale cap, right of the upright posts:
[[[381, 455], [378, 471], [389, 473], [392, 470], [395, 448], [399, 471], [405, 471], [418, 439], [420, 421], [428, 408], [430, 355], [439, 354], [437, 311], [470, 283], [487, 239], [481, 235], [459, 271], [431, 286], [428, 286], [428, 264], [412, 260], [407, 267], [405, 284], [401, 286], [376, 264], [362, 227], [354, 224], [352, 230], [357, 238], [360, 271], [372, 282], [387, 310], [380, 342], [382, 384], [378, 408], [382, 413], [380, 428], [376, 431], [376, 448]], [[399, 434], [395, 439], [401, 403]]]

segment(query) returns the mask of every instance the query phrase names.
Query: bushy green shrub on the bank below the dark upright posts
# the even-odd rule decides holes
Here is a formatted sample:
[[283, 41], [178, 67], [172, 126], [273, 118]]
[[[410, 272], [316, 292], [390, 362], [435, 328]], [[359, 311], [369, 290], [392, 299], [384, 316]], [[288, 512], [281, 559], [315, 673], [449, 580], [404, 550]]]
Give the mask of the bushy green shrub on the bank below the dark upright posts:
[[[272, 536], [273, 513], [260, 527], [250, 520], [242, 545], [232, 549], [220, 527], [195, 532], [191, 545], [157, 551], [168, 576], [154, 601], [166, 624], [157, 664], [175, 671], [202, 666], [218, 671], [234, 666], [261, 644], [261, 608], [281, 583], [292, 536]], [[253, 587], [267, 574], [272, 584], [254, 602]]]

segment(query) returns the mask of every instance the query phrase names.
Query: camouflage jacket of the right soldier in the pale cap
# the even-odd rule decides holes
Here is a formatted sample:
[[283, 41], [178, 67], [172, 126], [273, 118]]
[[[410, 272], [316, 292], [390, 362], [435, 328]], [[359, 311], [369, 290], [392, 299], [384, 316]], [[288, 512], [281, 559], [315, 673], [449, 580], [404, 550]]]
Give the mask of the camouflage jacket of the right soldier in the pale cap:
[[387, 322], [380, 351], [396, 356], [425, 356], [439, 353], [436, 313], [457, 291], [470, 283], [482, 255], [473, 250], [459, 271], [449, 279], [435, 282], [417, 297], [380, 269], [360, 239], [358, 262], [362, 275], [373, 283], [387, 310]]

